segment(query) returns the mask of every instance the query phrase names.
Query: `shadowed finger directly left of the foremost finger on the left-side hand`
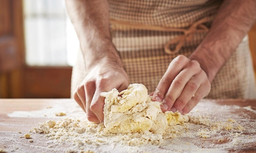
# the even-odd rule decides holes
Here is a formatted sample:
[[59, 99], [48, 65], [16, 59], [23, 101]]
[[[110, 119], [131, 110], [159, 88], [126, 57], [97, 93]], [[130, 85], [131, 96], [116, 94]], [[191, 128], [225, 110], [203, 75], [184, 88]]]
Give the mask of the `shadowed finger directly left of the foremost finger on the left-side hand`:
[[94, 112], [91, 110], [91, 103], [95, 94], [96, 85], [92, 81], [88, 81], [84, 85], [85, 87], [85, 96], [86, 96], [86, 115], [88, 121], [99, 123], [98, 118], [94, 114]]

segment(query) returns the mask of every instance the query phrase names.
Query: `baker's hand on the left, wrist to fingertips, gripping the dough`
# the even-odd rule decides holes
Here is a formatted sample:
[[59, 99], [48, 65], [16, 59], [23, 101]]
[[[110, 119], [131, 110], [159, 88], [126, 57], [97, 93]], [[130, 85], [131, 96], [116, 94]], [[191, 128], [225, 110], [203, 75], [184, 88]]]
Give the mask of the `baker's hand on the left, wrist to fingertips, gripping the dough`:
[[127, 89], [128, 76], [116, 64], [101, 62], [89, 70], [88, 75], [73, 93], [74, 100], [82, 107], [91, 122], [103, 122], [104, 98], [102, 92], [116, 88], [119, 92]]

